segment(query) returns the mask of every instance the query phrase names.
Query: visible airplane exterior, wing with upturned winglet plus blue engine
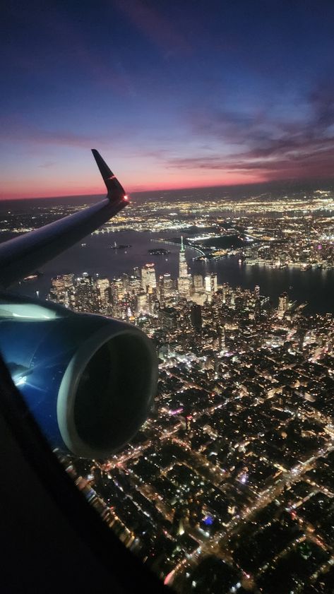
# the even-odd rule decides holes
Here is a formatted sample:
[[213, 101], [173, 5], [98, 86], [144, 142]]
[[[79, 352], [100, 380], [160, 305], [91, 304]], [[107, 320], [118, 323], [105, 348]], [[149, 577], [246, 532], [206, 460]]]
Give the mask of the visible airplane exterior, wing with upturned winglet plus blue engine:
[[[97, 150], [107, 197], [0, 245], [0, 290], [54, 258], [128, 202]], [[157, 386], [150, 339], [129, 323], [0, 292], [0, 352], [52, 446], [105, 458], [145, 421]], [[1, 392], [1, 391], [0, 391]]]

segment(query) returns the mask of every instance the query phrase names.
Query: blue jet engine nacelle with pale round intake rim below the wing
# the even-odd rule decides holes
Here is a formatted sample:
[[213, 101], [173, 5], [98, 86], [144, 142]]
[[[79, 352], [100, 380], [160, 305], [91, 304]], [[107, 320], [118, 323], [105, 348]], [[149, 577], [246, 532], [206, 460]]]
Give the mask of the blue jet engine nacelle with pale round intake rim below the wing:
[[44, 434], [62, 451], [106, 458], [148, 416], [157, 357], [129, 323], [3, 297], [0, 351]]

